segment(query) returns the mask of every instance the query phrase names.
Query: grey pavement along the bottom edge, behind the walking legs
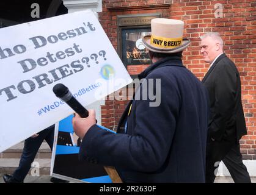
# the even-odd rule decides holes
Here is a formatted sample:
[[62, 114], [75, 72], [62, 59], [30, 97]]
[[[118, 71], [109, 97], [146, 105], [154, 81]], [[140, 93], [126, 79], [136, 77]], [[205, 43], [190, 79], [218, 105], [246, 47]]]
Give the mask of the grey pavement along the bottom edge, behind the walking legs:
[[[4, 183], [4, 179], [0, 174], [0, 183]], [[51, 183], [51, 176], [27, 176], [24, 183]], [[256, 183], [256, 177], [251, 177], [252, 183]], [[73, 182], [70, 182], [73, 183]], [[234, 183], [232, 177], [216, 177], [214, 183]]]

